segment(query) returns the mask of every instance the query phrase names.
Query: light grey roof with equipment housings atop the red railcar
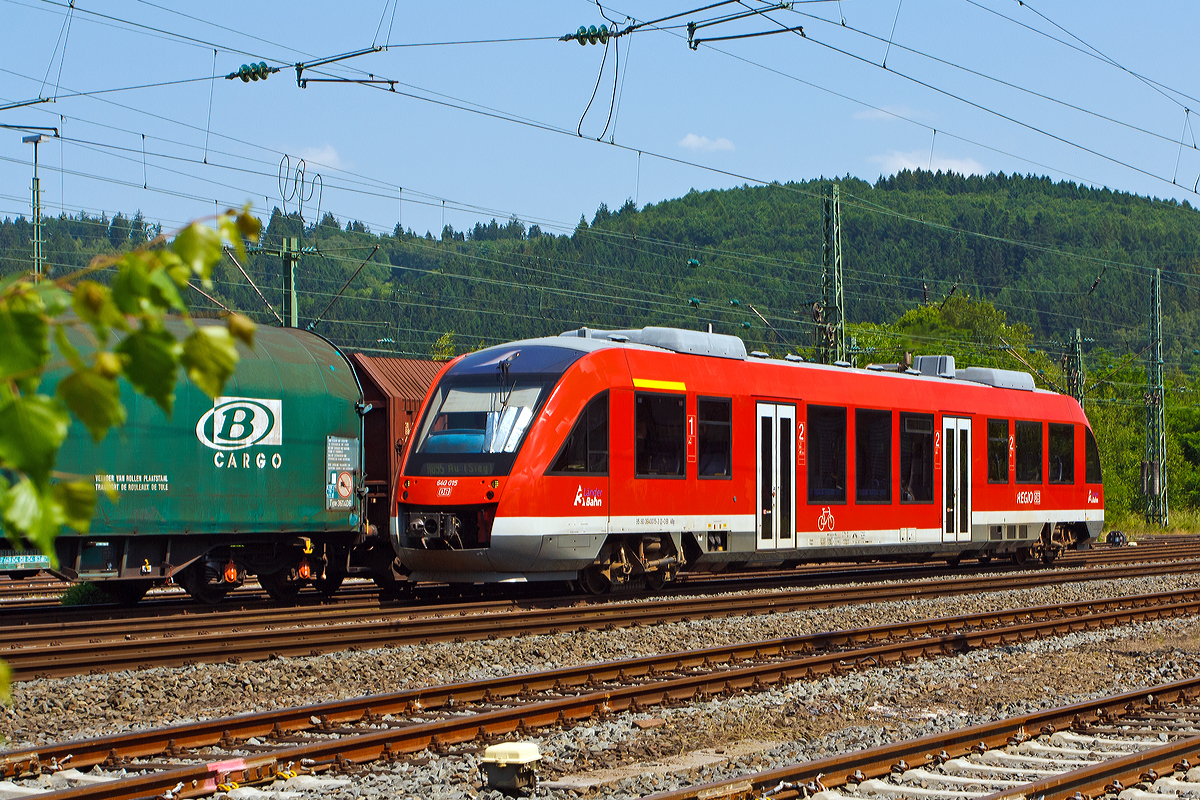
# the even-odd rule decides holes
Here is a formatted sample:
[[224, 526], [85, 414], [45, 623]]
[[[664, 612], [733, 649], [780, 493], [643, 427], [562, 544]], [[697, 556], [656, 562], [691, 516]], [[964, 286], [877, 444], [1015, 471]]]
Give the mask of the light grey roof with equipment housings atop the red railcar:
[[546, 336], [540, 338], [522, 339], [520, 342], [510, 342], [494, 348], [487, 348], [487, 350], [508, 350], [512, 348], [520, 349], [521, 347], [527, 345], [562, 348], [566, 350], [575, 350], [581, 355], [610, 348], [656, 350], [734, 361], [761, 361], [778, 366], [804, 367], [806, 369], [877, 373], [881, 377], [906, 377], [910, 380], [928, 380], [935, 383], [955, 380], [980, 386], [992, 386], [996, 389], [1012, 389], [1044, 395], [1056, 393], [1037, 389], [1033, 381], [1033, 375], [1027, 372], [998, 369], [995, 367], [956, 368], [954, 356], [948, 355], [917, 356], [913, 360], [912, 368], [905, 368], [902, 365], [878, 363], [868, 365], [865, 368], [856, 368], [845, 361], [840, 361], [835, 365], [821, 365], [805, 361], [803, 357], [797, 355], [787, 355], [784, 359], [773, 359], [768, 354], [758, 350], [748, 353], [745, 343], [738, 336], [731, 336], [727, 333], [709, 333], [706, 331], [689, 331], [678, 327], [652, 326], [626, 330], [580, 327], [571, 331], [564, 331], [558, 336]]

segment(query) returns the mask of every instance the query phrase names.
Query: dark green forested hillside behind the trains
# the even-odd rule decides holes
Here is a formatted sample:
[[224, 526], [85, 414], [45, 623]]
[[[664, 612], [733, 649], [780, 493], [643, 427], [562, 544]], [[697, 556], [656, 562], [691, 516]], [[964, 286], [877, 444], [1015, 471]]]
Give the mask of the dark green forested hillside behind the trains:
[[[1054, 389], [1062, 385], [1062, 343], [1081, 329], [1091, 387], [1085, 407], [1106, 444], [1109, 509], [1118, 513], [1136, 512], [1140, 503], [1145, 373], [1134, 356], [1146, 345], [1148, 275], [1162, 269], [1171, 504], [1200, 505], [1200, 411], [1190, 375], [1200, 361], [1195, 209], [1018, 175], [918, 170], [874, 185], [838, 182], [846, 313], [858, 360], [950, 353], [960, 365], [1031, 369]], [[305, 225], [276, 210], [263, 243], [277, 248], [283, 236], [302, 236], [301, 326], [370, 257], [316, 329], [350, 348], [428, 356], [439, 337], [443, 348], [449, 341], [462, 351], [580, 325], [712, 324], [750, 349], [811, 356], [821, 198], [829, 184], [690, 192], [642, 209], [600, 206], [559, 234], [517, 218], [467, 231], [382, 233], [331, 213]], [[140, 212], [49, 219], [47, 259], [62, 271], [156, 233]], [[28, 269], [30, 237], [24, 218], [0, 223], [5, 272]], [[278, 255], [252, 254], [245, 266], [280, 309]], [[274, 323], [230, 261], [217, 269], [211, 294]]]

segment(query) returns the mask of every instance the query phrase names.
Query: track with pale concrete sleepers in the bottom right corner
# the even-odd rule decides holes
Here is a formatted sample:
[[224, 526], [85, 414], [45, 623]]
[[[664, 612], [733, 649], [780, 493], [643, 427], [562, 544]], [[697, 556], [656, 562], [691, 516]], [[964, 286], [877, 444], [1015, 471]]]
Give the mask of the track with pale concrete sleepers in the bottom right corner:
[[1194, 796], [1198, 722], [1200, 679], [1193, 679], [648, 800]]

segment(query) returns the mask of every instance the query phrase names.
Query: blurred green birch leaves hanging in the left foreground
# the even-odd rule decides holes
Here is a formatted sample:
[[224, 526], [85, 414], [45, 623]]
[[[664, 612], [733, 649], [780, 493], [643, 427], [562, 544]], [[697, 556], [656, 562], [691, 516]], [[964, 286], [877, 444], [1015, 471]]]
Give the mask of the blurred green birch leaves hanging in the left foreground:
[[[221, 393], [238, 365], [235, 343], [252, 347], [254, 325], [230, 314], [224, 327], [198, 327], [186, 290], [193, 279], [210, 288], [222, 247], [245, 258], [244, 241], [258, 234], [247, 209], [230, 210], [215, 227], [193, 222], [170, 243], [158, 236], [54, 281], [35, 282], [26, 272], [0, 282], [0, 524], [14, 546], [34, 546], [53, 560], [64, 527], [88, 530], [95, 476], [54, 470], [72, 415], [96, 441], [124, 425], [122, 378], [169, 415], [180, 367], [209, 396]], [[92, 279], [102, 272], [115, 273], [109, 285]], [[182, 341], [164, 325], [168, 314], [187, 321]], [[80, 355], [67, 329], [83, 331], [94, 351]], [[55, 393], [41, 393], [44, 373], [62, 368], [70, 372]]]

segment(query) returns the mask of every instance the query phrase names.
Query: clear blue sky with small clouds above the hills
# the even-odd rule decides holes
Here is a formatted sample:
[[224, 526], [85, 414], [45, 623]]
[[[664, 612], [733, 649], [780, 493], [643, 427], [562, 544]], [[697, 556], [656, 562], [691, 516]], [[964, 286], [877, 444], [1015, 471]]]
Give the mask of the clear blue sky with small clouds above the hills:
[[[562, 233], [600, 203], [916, 167], [1198, 199], [1195, 2], [796, 2], [697, 37], [781, 25], [803, 37], [688, 47], [684, 24], [763, 7], [746, 2], [614, 40], [614, 73], [616, 43], [606, 55], [556, 41], [605, 22], [583, 0], [79, 0], [73, 12], [0, 0], [0, 106], [55, 98], [0, 124], [64, 134], [40, 149], [49, 211], [142, 210], [168, 229], [217, 205], [282, 206], [284, 155], [292, 178], [305, 160], [307, 218], [319, 209], [390, 230], [402, 217], [434, 234], [443, 213], [460, 230], [516, 215]], [[698, 5], [613, 0], [604, 12], [624, 26]], [[496, 38], [534, 41], [413, 47]], [[296, 85], [298, 61], [372, 46], [388, 47], [306, 74], [373, 74], [395, 92]], [[281, 72], [223, 79], [252, 60]], [[179, 83], [76, 95], [162, 82]], [[22, 132], [0, 130], [0, 216], [29, 213], [31, 157]]]

